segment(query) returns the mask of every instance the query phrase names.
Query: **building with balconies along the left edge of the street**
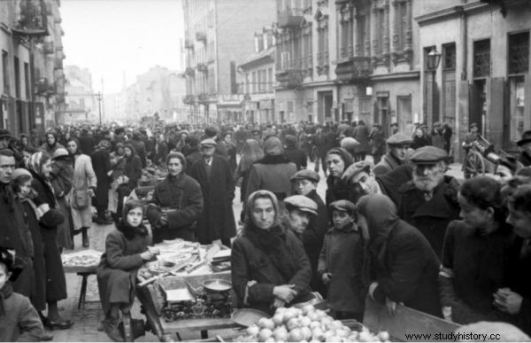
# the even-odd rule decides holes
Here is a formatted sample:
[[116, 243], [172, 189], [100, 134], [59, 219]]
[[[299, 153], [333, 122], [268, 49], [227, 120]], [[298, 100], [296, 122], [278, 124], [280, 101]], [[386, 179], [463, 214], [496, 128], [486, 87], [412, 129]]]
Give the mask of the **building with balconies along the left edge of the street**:
[[42, 131], [65, 108], [59, 0], [0, 2], [0, 127]]

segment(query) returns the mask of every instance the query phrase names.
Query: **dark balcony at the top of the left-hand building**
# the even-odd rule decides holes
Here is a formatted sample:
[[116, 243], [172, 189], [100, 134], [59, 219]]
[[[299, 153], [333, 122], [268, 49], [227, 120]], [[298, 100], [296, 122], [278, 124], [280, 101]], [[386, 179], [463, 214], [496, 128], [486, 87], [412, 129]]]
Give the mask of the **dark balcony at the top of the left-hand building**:
[[19, 12], [13, 23], [12, 32], [17, 35], [39, 37], [48, 35], [46, 4], [43, 0], [19, 2]]

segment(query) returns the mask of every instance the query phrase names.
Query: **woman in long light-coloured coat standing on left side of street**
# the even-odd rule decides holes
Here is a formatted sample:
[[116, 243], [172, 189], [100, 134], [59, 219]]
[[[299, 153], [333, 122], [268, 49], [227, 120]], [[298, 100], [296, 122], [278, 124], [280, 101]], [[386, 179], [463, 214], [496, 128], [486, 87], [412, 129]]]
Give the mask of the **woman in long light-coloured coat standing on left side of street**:
[[76, 138], [71, 138], [68, 141], [66, 149], [73, 160], [72, 191], [70, 193], [73, 233], [81, 232], [83, 246], [89, 247], [87, 230], [92, 225], [90, 199], [94, 197], [96, 190], [96, 174], [89, 156], [81, 153], [80, 143]]

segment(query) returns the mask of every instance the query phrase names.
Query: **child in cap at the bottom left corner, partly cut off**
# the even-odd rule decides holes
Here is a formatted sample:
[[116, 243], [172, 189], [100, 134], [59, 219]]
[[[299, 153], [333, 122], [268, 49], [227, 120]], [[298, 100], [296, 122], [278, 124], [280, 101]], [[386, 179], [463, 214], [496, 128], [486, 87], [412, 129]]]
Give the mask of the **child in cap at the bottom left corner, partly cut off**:
[[38, 342], [44, 333], [41, 319], [27, 297], [13, 292], [14, 281], [22, 268], [15, 266], [15, 258], [0, 247], [0, 341]]

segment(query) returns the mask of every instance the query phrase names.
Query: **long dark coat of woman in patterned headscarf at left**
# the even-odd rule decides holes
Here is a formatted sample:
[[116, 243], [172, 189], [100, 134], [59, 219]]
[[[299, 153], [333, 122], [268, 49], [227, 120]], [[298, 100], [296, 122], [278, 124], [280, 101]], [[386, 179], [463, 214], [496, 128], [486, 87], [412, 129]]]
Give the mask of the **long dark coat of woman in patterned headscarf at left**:
[[[53, 194], [52, 189], [42, 181], [39, 175], [31, 172], [33, 180], [32, 188], [37, 192], [38, 196], [34, 199], [37, 207], [42, 204], [48, 204], [50, 211], [58, 210], [58, 204]], [[45, 226], [41, 229], [42, 243], [44, 247], [44, 267], [46, 269], [46, 301], [58, 301], [66, 299], [66, 279], [65, 270], [63, 269], [63, 260], [61, 253], [59, 253], [58, 246], [58, 223], [65, 221], [63, 214], [55, 211], [50, 213], [56, 218], [51, 218], [50, 222], [41, 221], [40, 225]], [[42, 219], [46, 218], [46, 214]]]

